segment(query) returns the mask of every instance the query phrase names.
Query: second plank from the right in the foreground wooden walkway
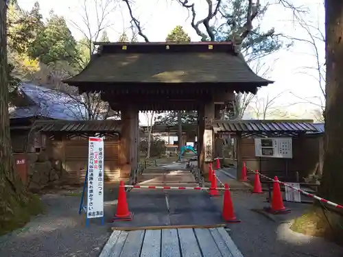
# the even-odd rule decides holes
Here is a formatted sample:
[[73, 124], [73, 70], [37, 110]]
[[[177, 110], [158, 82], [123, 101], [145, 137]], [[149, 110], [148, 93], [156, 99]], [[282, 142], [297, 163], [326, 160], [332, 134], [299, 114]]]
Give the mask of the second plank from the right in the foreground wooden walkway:
[[204, 257], [222, 257], [209, 229], [196, 228], [194, 232]]

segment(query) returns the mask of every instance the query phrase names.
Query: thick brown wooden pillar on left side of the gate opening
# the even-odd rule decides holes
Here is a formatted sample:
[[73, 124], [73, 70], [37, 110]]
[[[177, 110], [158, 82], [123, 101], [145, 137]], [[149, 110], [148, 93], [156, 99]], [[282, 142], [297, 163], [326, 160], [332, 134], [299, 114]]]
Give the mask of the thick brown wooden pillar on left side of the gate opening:
[[129, 178], [139, 161], [139, 111], [133, 106], [121, 110], [120, 178]]

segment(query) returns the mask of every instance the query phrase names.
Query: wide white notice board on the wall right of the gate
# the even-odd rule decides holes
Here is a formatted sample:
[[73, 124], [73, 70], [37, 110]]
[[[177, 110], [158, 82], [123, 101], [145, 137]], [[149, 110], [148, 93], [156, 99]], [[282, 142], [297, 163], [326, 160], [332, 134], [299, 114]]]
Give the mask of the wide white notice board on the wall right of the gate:
[[292, 138], [255, 138], [255, 156], [292, 158]]

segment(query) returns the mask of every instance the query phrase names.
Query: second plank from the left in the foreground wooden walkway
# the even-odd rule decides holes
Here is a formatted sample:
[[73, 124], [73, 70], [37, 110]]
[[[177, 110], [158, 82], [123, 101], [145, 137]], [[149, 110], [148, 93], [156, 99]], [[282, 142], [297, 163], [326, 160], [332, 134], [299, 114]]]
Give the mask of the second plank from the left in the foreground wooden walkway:
[[145, 230], [130, 231], [121, 250], [120, 257], [139, 257]]

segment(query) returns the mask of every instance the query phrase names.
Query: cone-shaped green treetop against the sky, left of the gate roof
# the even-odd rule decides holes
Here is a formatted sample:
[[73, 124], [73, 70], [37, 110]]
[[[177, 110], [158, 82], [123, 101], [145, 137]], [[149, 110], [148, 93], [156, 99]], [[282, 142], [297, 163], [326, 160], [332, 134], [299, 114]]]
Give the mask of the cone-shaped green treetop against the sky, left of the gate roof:
[[50, 13], [47, 23], [29, 47], [29, 56], [44, 64], [64, 61], [71, 65], [77, 56], [76, 41], [62, 16]]

